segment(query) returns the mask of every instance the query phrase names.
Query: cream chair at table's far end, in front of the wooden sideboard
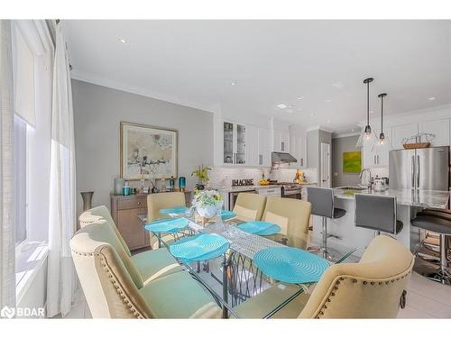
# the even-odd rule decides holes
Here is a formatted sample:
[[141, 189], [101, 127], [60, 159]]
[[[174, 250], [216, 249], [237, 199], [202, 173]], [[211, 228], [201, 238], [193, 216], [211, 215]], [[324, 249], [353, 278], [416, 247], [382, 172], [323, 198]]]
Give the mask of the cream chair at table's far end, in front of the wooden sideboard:
[[[185, 193], [172, 192], [148, 195], [147, 222], [152, 222], [161, 218], [169, 218], [168, 215], [160, 214], [160, 210], [176, 206], [186, 206]], [[150, 233], [150, 236], [152, 248], [158, 248], [157, 237], [152, 233]], [[165, 242], [167, 242], [168, 240], [170, 240], [170, 236], [168, 236], [168, 239]]]

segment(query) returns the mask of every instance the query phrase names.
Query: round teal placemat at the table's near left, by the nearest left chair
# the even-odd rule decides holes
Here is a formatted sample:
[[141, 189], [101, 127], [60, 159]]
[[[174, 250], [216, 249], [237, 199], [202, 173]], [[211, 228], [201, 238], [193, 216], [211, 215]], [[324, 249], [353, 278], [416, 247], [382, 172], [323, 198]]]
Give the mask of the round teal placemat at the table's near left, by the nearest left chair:
[[211, 260], [230, 247], [230, 242], [216, 233], [198, 233], [170, 245], [172, 256], [180, 260]]

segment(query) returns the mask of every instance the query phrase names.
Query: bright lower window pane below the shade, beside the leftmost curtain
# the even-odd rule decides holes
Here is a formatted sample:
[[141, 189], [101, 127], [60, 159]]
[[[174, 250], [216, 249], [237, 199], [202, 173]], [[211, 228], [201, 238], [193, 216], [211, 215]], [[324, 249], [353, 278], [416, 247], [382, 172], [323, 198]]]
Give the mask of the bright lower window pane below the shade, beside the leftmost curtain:
[[14, 114], [14, 198], [15, 244], [27, 239], [28, 219], [28, 137], [27, 123]]

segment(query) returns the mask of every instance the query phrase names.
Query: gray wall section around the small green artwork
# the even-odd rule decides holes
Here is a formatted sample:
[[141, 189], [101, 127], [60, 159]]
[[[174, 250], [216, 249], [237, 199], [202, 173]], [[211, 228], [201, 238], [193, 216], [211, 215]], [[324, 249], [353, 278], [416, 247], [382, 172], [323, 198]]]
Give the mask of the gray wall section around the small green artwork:
[[343, 152], [360, 151], [355, 148], [359, 135], [332, 139], [332, 187], [355, 186], [360, 183], [359, 174], [343, 172]]

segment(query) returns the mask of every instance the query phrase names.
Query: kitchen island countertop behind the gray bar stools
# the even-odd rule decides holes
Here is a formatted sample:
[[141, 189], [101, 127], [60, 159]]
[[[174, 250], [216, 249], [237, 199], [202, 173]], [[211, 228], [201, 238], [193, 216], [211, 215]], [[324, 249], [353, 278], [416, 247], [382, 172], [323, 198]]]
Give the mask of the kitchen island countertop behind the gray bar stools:
[[340, 187], [334, 188], [334, 195], [341, 199], [354, 199], [354, 193], [367, 194], [376, 196], [395, 196], [396, 203], [400, 206], [419, 206], [419, 207], [435, 207], [445, 209], [447, 207], [449, 192], [438, 190], [413, 190], [405, 189], [388, 189], [385, 191], [374, 190], [346, 190]]

